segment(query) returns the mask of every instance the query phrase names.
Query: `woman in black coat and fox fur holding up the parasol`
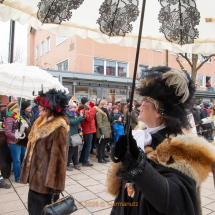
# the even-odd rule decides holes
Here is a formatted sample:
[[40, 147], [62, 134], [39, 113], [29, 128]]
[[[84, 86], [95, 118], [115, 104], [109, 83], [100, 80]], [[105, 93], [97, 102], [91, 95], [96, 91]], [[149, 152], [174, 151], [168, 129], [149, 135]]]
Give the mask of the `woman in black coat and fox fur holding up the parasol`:
[[111, 215], [201, 215], [199, 190], [214, 169], [215, 150], [205, 139], [181, 131], [188, 127], [193, 81], [184, 71], [154, 67], [144, 72], [136, 91], [146, 129], [120, 136], [112, 148]]

